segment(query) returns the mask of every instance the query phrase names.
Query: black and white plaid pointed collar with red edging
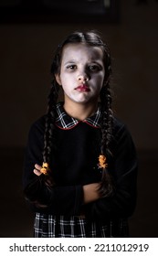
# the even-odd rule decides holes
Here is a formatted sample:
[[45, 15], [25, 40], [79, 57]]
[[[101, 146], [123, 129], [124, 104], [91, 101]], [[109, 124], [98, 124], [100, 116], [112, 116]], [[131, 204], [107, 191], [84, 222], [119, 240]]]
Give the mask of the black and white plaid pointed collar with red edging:
[[100, 105], [97, 112], [95, 112], [92, 116], [86, 118], [84, 121], [79, 121], [78, 119], [69, 116], [65, 112], [63, 108], [63, 102], [58, 102], [56, 118], [56, 125], [58, 126], [58, 128], [63, 130], [69, 130], [78, 125], [79, 123], [88, 123], [94, 128], [100, 128]]

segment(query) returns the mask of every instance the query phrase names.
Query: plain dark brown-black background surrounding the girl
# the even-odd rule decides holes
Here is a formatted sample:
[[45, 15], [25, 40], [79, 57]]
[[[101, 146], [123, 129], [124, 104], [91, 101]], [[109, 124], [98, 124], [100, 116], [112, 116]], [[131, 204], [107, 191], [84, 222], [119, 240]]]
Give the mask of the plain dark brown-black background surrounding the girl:
[[[37, 1], [24, 1], [30, 3], [26, 9], [21, 1], [11, 7], [6, 2], [14, 1], [0, 1], [0, 237], [33, 236], [33, 214], [21, 183], [27, 133], [47, 109], [54, 49], [69, 33], [82, 29], [100, 31], [111, 48], [114, 112], [128, 125], [138, 152], [131, 236], [158, 237], [157, 1], [121, 0], [118, 11], [117, 5], [105, 13], [95, 7], [97, 15], [92, 9], [86, 13], [83, 1], [70, 1], [69, 8], [55, 13], [52, 7], [41, 9]], [[72, 15], [77, 2], [84, 13], [74, 9]]]

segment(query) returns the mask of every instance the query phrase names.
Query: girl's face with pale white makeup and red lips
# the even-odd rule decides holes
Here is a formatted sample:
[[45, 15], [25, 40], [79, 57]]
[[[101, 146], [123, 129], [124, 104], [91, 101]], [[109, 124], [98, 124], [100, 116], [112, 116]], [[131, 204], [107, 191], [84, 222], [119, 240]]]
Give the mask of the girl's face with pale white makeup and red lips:
[[56, 75], [62, 85], [65, 102], [96, 102], [104, 80], [103, 52], [99, 47], [68, 44], [64, 47], [60, 73]]

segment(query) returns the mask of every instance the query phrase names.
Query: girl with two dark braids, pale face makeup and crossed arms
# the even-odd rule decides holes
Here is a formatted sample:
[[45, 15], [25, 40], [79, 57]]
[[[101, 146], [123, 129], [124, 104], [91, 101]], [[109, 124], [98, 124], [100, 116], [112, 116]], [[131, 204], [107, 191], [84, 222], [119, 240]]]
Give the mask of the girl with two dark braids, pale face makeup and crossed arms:
[[51, 73], [47, 114], [32, 125], [26, 147], [35, 237], [127, 237], [137, 159], [131, 134], [111, 111], [109, 48], [94, 32], [72, 33]]

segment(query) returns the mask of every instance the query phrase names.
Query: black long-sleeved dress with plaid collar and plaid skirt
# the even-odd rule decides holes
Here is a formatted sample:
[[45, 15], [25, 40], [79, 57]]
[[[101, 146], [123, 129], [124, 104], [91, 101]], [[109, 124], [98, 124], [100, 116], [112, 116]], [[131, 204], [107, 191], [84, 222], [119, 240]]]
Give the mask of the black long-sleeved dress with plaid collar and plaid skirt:
[[[112, 197], [83, 206], [83, 186], [100, 182], [100, 106], [79, 122], [57, 105], [57, 150], [52, 154], [51, 170], [56, 186], [47, 191], [42, 176], [33, 173], [42, 165], [45, 116], [30, 129], [26, 146], [24, 188], [47, 208], [30, 207], [36, 212], [35, 237], [128, 237], [128, 217], [136, 204], [137, 156], [132, 137], [118, 119], [113, 122], [112, 157], [108, 166], [115, 183]], [[30, 186], [31, 184], [31, 186]], [[82, 215], [84, 213], [84, 215]]]

